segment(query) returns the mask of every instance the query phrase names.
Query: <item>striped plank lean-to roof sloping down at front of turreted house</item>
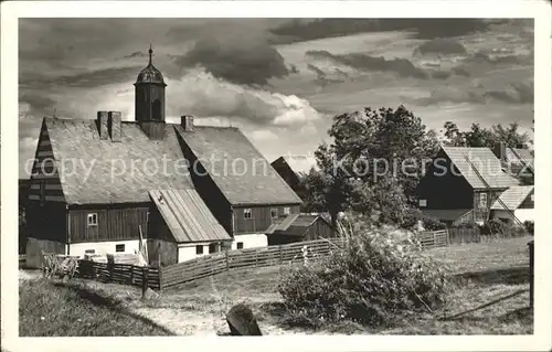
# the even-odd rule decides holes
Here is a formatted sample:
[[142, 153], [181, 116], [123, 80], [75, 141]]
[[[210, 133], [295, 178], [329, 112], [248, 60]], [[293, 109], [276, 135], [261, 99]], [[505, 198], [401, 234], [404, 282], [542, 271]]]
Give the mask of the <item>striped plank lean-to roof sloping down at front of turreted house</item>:
[[151, 190], [149, 195], [177, 243], [232, 241], [195, 190]]

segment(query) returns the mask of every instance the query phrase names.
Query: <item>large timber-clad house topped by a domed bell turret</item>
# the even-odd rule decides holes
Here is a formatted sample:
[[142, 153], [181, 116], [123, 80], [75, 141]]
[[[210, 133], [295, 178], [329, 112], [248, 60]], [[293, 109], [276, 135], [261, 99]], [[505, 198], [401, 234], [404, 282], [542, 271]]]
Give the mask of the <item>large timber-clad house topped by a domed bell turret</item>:
[[167, 85], [151, 53], [135, 83], [135, 121], [119, 111], [43, 119], [28, 206], [34, 265], [41, 250], [132, 253], [140, 232], [150, 259], [166, 263], [230, 243], [263, 246], [279, 214], [299, 212], [300, 199], [237, 128], [166, 122]]

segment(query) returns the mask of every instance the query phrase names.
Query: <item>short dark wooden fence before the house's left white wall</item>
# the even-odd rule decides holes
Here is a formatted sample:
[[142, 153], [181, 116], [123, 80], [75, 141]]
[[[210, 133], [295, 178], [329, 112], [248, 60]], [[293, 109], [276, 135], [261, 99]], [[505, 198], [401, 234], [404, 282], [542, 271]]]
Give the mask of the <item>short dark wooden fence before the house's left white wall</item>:
[[146, 279], [148, 287], [152, 289], [161, 289], [160, 270], [155, 267], [78, 260], [76, 276], [97, 281], [140, 287], [144, 286], [144, 279]]

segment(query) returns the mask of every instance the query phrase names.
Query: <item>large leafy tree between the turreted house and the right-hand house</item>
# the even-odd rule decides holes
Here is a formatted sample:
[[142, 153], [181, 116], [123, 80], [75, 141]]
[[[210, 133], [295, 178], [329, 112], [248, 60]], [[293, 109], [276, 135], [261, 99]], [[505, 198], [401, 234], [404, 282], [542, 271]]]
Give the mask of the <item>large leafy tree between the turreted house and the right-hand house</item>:
[[404, 106], [336, 116], [329, 135], [333, 142], [315, 153], [319, 171], [306, 178], [306, 202], [329, 211], [333, 223], [348, 209], [401, 213], [438, 149], [436, 134]]

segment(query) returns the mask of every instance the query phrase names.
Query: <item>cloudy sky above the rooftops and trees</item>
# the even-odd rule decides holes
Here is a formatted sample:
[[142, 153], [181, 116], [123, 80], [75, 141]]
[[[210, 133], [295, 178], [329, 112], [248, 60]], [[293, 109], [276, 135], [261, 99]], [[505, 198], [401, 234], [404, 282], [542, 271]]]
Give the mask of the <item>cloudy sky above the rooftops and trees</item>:
[[150, 43], [169, 121], [238, 126], [269, 161], [312, 152], [332, 116], [368, 106], [403, 104], [436, 130], [532, 125], [532, 20], [21, 19], [20, 177], [54, 109], [134, 120]]

